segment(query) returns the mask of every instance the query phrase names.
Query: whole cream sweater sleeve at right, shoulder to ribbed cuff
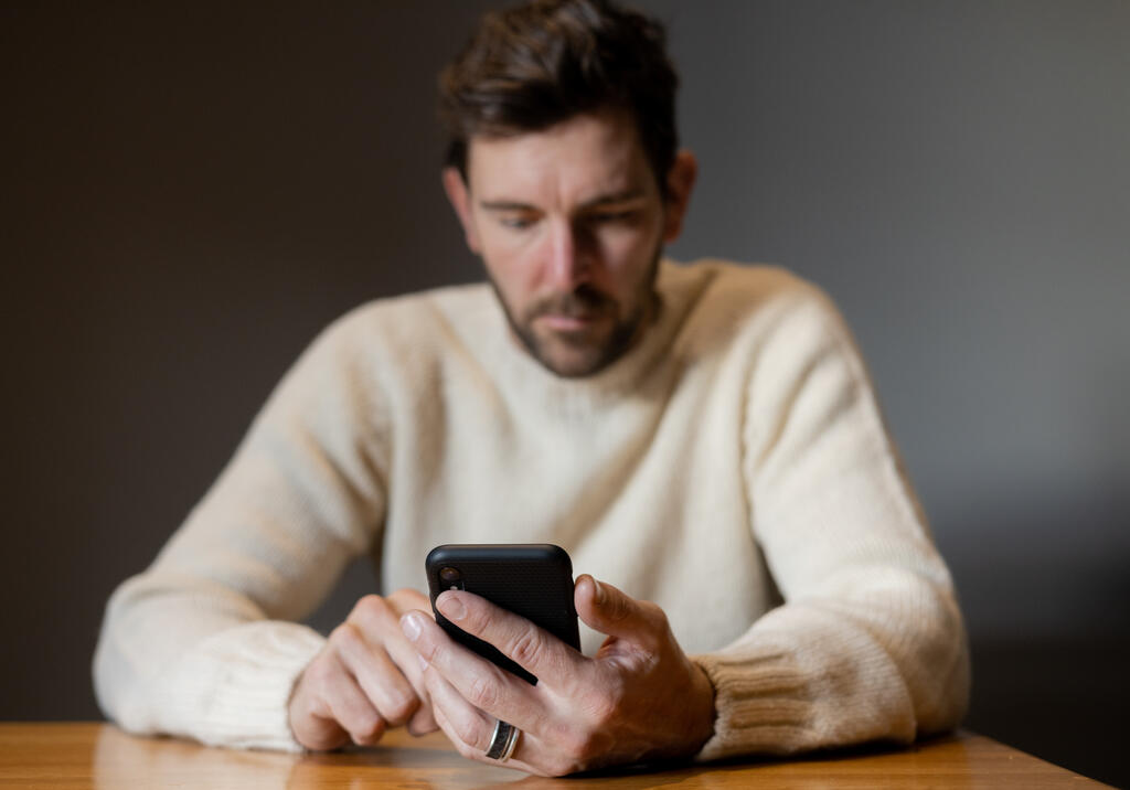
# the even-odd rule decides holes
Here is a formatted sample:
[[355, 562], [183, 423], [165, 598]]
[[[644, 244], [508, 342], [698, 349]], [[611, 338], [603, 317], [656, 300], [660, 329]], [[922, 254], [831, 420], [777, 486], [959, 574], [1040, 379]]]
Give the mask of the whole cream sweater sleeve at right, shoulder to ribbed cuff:
[[715, 688], [699, 759], [951, 728], [970, 684], [953, 583], [847, 327], [815, 288], [747, 392], [744, 475], [783, 605], [696, 656]]

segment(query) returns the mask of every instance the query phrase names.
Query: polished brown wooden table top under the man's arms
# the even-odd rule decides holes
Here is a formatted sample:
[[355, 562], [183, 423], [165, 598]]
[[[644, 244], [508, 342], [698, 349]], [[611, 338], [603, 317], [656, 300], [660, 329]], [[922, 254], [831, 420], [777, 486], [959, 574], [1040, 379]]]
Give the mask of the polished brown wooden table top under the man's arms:
[[316, 755], [136, 738], [111, 724], [0, 723], [0, 788], [1083, 788], [1103, 787], [982, 736], [792, 762], [540, 779], [460, 757], [441, 733], [388, 733], [372, 749]]

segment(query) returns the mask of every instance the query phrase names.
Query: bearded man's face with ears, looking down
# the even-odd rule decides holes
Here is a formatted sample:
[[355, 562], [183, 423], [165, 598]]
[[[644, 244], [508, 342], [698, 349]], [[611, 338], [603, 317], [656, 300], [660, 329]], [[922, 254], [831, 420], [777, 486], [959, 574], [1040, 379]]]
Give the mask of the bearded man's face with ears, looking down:
[[467, 184], [449, 170], [444, 185], [530, 354], [558, 375], [584, 376], [631, 348], [685, 207], [678, 196], [661, 199], [631, 118], [579, 115], [540, 132], [477, 137], [467, 171]]

